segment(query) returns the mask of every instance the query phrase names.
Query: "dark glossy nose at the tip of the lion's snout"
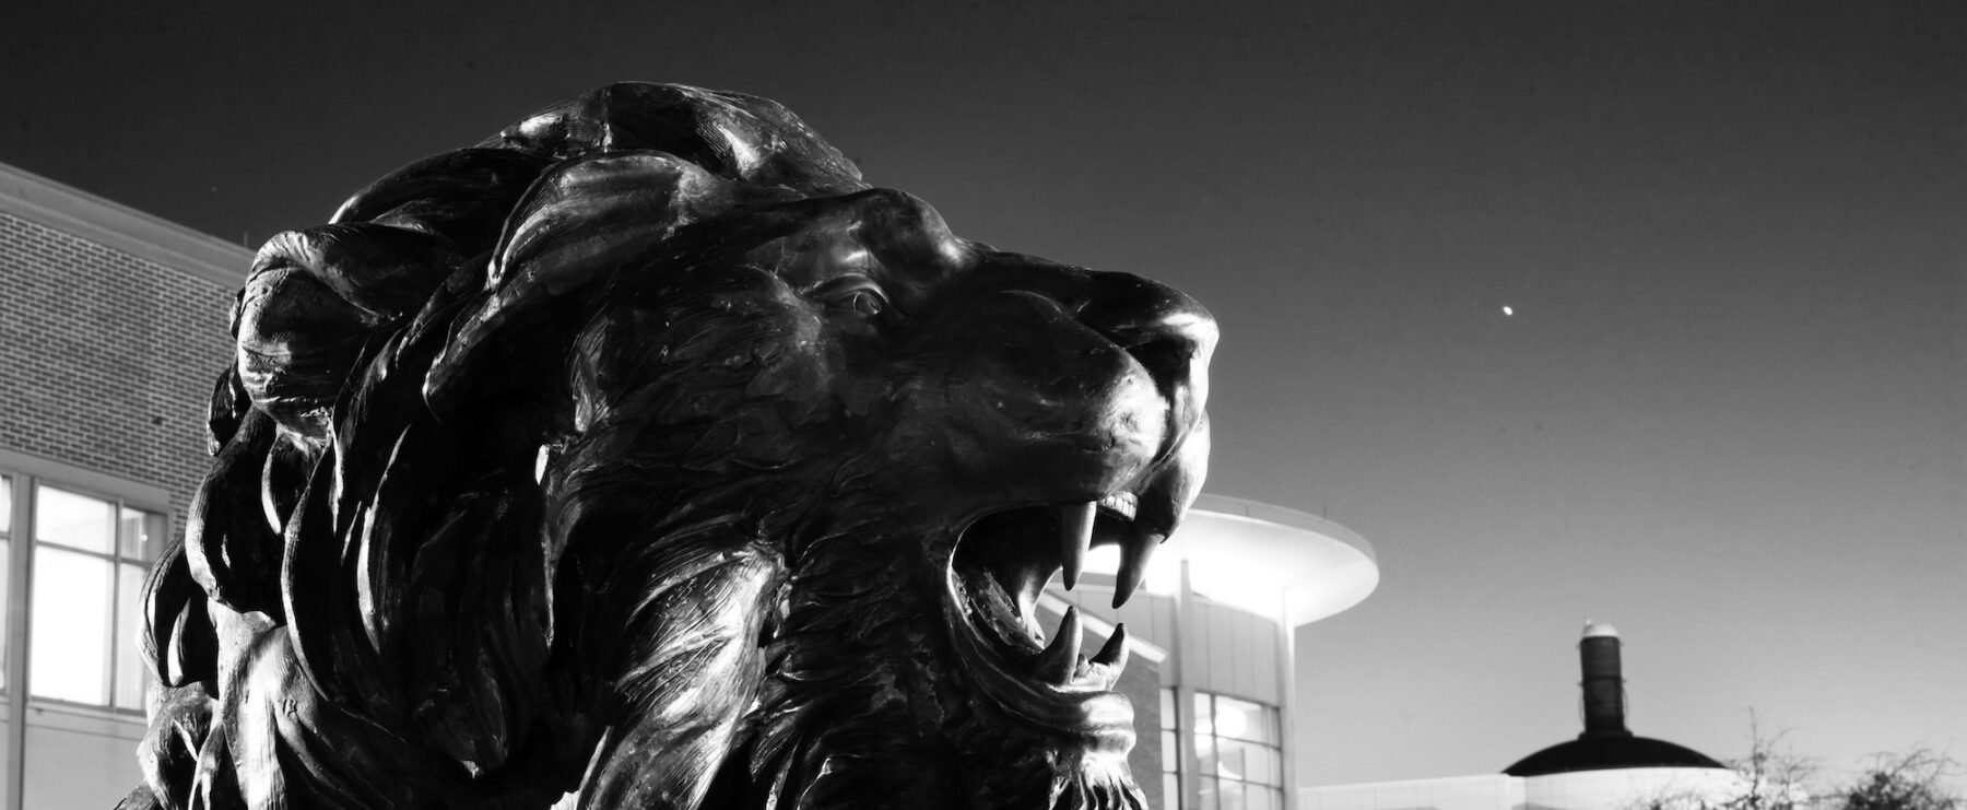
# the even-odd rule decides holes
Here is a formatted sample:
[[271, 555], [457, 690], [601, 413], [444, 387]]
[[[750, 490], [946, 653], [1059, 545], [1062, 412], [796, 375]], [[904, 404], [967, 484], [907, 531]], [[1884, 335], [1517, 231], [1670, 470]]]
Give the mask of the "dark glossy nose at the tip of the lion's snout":
[[1131, 273], [1092, 273], [1078, 320], [1127, 350], [1170, 401], [1200, 411], [1216, 317], [1182, 291]]

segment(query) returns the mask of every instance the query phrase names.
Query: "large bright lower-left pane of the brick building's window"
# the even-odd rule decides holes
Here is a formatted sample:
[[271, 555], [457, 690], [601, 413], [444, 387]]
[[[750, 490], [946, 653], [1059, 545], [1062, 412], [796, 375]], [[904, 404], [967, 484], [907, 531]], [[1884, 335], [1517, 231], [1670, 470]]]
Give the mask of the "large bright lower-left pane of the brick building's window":
[[108, 560], [73, 550], [35, 549], [28, 653], [28, 684], [33, 694], [106, 702], [112, 568]]

